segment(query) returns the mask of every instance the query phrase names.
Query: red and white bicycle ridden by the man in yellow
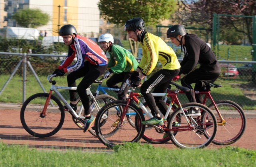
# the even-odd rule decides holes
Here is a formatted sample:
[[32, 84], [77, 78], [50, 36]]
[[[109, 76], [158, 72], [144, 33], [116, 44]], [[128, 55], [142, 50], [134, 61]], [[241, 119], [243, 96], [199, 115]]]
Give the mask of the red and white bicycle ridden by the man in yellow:
[[[164, 125], [155, 126], [157, 132], [168, 133], [168, 137], [172, 140], [174, 145], [180, 148], [203, 148], [209, 145], [217, 131], [217, 121], [212, 111], [205, 105], [198, 103], [187, 103], [181, 105], [178, 98], [178, 89], [189, 91], [188, 88], [180, 86], [176, 83], [171, 84], [176, 86], [175, 94], [172, 94], [173, 103], [170, 103], [168, 110], [164, 116]], [[170, 96], [166, 93], [152, 93], [153, 96]], [[152, 118], [152, 114], [146, 107], [138, 100], [140, 93], [134, 93], [132, 88], [127, 101], [118, 100], [110, 102], [103, 106], [98, 112], [95, 120], [95, 132], [98, 139], [107, 147], [114, 147], [116, 144], [123, 144], [124, 142], [138, 142], [144, 135], [146, 126], [141, 122], [145, 120], [144, 114], [148, 118]], [[134, 103], [130, 103], [134, 100]], [[178, 104], [178, 108], [172, 112], [168, 122], [166, 121], [170, 110], [173, 109], [174, 102]], [[201, 116], [186, 116], [185, 110], [189, 108], [198, 107], [201, 110]], [[113, 126], [115, 120], [119, 119], [116, 126]], [[102, 124], [104, 122], [104, 124]], [[129, 122], [129, 124], [128, 124]], [[133, 122], [135, 128], [130, 122]], [[166, 127], [167, 124], [167, 127]], [[150, 130], [152, 132], [152, 130]], [[202, 138], [201, 134], [197, 132], [207, 133], [208, 138]]]

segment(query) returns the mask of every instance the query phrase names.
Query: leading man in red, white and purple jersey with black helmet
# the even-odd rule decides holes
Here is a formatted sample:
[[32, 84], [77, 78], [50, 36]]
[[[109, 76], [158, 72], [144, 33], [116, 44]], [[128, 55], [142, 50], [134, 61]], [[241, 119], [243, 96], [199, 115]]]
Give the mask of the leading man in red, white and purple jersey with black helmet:
[[[108, 59], [104, 51], [92, 40], [77, 34], [76, 28], [71, 24], [62, 26], [59, 35], [63, 37], [65, 45], [68, 46], [68, 55], [53, 74], [67, 76], [68, 86], [76, 87], [76, 79], [84, 77], [78, 84], [76, 90], [69, 90], [70, 105], [74, 110], [77, 109], [76, 92], [81, 98], [84, 106], [84, 132], [90, 129], [95, 118], [90, 115], [89, 98], [86, 89], [102, 75], [107, 68]], [[74, 58], [77, 57], [76, 63], [70, 65]], [[65, 106], [66, 107], [66, 106]]]

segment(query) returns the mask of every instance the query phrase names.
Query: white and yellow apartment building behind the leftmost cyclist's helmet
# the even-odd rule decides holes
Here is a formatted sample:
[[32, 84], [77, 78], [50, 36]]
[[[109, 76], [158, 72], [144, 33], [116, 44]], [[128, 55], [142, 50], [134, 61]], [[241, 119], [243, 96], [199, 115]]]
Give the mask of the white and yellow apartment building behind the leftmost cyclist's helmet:
[[[46, 26], [38, 30], [46, 31], [48, 36], [57, 36], [58, 29], [64, 24], [72, 24], [81, 35], [98, 37], [100, 25], [100, 11], [97, 3], [99, 0], [1, 0], [7, 14], [1, 14], [6, 26], [18, 27], [12, 20], [13, 13], [20, 9], [38, 8], [50, 16]], [[1, 7], [1, 6], [0, 6]], [[2, 12], [2, 10], [1, 10]], [[5, 25], [0, 26], [2, 28]]]

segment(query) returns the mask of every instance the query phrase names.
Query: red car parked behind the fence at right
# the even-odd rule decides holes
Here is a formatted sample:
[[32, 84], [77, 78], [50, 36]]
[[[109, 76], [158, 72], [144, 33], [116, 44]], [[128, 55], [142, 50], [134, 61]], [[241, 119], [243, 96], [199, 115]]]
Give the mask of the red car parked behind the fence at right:
[[222, 77], [236, 78], [238, 75], [238, 70], [236, 66], [229, 63], [220, 63]]

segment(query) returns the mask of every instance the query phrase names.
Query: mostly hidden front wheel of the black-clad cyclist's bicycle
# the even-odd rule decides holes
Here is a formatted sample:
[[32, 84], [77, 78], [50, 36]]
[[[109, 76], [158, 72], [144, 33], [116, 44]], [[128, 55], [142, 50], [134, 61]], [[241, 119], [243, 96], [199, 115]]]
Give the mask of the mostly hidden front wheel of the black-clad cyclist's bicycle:
[[[167, 104], [167, 103], [166, 103]], [[167, 104], [169, 106], [169, 104]], [[145, 104], [144, 106], [147, 106], [147, 104]], [[172, 111], [174, 111], [177, 107], [175, 105], [172, 106]], [[171, 114], [171, 113], [170, 113]], [[145, 120], [148, 120], [149, 118], [144, 115], [146, 118]], [[179, 117], [177, 117], [176, 122], [180, 122], [180, 120], [178, 120]], [[168, 120], [166, 120], [164, 122], [164, 128], [166, 128], [168, 126]], [[147, 141], [148, 143], [152, 143], [152, 144], [162, 144], [162, 143], [166, 143], [170, 140], [169, 136], [166, 136], [164, 138], [164, 134], [166, 132], [162, 129], [156, 129], [153, 126], [149, 125], [146, 126], [145, 128], [145, 132], [142, 136], [142, 139], [144, 139], [145, 141]]]

